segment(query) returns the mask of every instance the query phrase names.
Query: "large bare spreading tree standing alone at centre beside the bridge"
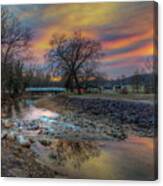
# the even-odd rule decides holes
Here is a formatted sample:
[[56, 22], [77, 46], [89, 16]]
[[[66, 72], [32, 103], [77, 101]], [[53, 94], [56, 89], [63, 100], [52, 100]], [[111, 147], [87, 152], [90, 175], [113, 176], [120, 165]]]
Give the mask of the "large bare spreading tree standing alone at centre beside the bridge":
[[65, 86], [72, 91], [77, 87], [80, 94], [80, 77], [84, 75], [86, 66], [92, 66], [100, 59], [100, 43], [75, 32], [70, 38], [65, 35], [58, 38], [53, 36], [50, 45], [48, 62], [53, 64], [55, 72], [65, 79]]

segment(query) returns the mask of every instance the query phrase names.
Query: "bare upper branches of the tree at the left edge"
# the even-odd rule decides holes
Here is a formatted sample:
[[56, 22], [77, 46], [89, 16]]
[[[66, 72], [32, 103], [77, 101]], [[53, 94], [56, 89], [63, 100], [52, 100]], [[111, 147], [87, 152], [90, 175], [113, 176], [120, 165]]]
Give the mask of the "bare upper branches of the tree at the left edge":
[[11, 57], [21, 56], [24, 58], [32, 37], [31, 29], [23, 27], [19, 20], [5, 7], [2, 7], [1, 27], [2, 62], [7, 63]]

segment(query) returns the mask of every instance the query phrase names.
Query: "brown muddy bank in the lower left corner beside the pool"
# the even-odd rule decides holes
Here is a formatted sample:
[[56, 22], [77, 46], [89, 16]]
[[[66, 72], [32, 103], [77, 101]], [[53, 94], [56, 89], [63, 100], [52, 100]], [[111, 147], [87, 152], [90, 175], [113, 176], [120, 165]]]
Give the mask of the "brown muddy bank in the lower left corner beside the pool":
[[1, 157], [2, 177], [66, 177], [65, 175], [58, 174], [46, 165], [38, 163], [29, 148], [22, 148], [12, 140], [2, 140]]

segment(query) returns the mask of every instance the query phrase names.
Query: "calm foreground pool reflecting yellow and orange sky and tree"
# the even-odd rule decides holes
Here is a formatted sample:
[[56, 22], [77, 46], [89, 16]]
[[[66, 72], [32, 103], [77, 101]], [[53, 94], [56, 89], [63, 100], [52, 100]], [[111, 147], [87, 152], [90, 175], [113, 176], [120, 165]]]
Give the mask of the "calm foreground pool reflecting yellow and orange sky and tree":
[[121, 142], [58, 140], [49, 166], [70, 178], [152, 180], [153, 148], [153, 139], [135, 136]]

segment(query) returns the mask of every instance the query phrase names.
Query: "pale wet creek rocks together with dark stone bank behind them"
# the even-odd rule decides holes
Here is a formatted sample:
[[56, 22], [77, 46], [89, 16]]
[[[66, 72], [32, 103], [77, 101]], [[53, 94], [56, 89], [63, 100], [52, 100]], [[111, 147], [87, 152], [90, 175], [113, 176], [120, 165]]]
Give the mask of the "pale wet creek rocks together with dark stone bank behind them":
[[[46, 147], [51, 145], [49, 139], [52, 138], [123, 140], [127, 137], [128, 131], [124, 130], [127, 125], [138, 133], [143, 131], [143, 134], [149, 132], [150, 135], [153, 134], [151, 126], [155, 120], [151, 104], [73, 97], [68, 98], [66, 103], [78, 109], [69, 110], [58, 117], [42, 115], [32, 121], [21, 119], [3, 121], [8, 132], [16, 131], [16, 137], [11, 132], [9, 138], [16, 138], [22, 146], [30, 146], [32, 142], [39, 141]], [[5, 138], [6, 134], [3, 134], [3, 137]]]

